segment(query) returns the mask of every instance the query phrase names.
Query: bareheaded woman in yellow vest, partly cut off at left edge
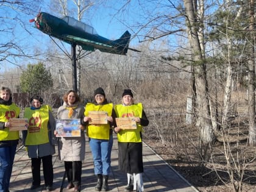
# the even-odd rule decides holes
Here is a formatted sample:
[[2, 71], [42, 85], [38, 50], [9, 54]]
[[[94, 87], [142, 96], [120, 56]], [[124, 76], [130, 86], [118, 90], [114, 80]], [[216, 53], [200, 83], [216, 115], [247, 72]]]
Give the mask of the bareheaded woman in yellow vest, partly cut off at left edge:
[[18, 131], [10, 131], [10, 118], [18, 118], [20, 108], [12, 102], [12, 92], [7, 87], [0, 89], [0, 191], [8, 192], [10, 176], [19, 140]]

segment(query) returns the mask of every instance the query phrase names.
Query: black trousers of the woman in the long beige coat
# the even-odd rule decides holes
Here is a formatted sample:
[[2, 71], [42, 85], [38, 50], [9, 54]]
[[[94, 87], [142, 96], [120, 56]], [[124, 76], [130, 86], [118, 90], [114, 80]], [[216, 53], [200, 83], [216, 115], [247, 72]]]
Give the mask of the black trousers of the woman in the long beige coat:
[[64, 162], [64, 164], [68, 183], [73, 183], [76, 186], [80, 186], [82, 175], [82, 162]]

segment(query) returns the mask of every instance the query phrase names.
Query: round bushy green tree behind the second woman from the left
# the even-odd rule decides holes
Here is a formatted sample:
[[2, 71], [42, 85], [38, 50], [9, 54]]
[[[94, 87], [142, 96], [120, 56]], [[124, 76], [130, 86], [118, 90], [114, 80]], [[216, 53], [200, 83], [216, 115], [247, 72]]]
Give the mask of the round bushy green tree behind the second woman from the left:
[[52, 88], [53, 79], [49, 69], [43, 63], [27, 65], [20, 77], [20, 88], [23, 92], [42, 94]]

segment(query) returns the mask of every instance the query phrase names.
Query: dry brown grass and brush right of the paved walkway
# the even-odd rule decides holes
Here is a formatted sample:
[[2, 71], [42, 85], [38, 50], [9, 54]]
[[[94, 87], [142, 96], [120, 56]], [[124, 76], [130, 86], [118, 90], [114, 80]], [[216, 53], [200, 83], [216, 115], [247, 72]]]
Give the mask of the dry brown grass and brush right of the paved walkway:
[[[237, 165], [244, 166], [243, 191], [255, 191], [256, 148], [247, 145], [246, 118], [230, 119], [232, 126], [222, 134], [219, 132], [215, 144], [209, 149], [199, 145], [196, 127], [188, 126], [183, 115], [174, 115], [171, 111], [147, 111], [151, 123], [145, 127], [143, 138], [157, 154], [199, 191], [234, 191], [227, 169], [225, 141]], [[232, 169], [237, 176], [239, 170]]]

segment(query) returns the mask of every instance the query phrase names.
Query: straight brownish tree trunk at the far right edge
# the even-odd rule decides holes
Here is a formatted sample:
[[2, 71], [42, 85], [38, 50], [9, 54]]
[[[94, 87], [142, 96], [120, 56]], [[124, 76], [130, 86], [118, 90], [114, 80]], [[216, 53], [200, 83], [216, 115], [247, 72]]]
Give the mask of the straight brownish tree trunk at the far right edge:
[[254, 0], [249, 1], [249, 60], [248, 60], [248, 112], [249, 112], [249, 143], [252, 146], [256, 144], [255, 129], [255, 38], [254, 38]]

